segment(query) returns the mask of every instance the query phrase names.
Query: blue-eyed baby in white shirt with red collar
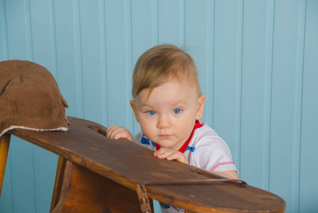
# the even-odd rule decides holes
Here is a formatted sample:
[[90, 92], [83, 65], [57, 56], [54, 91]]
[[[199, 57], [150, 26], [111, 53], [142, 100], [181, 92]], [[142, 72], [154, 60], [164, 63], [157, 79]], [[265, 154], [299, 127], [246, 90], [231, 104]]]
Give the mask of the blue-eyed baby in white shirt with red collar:
[[[157, 158], [178, 160], [225, 178], [238, 179], [225, 141], [199, 119], [205, 95], [188, 53], [174, 45], [157, 45], [137, 60], [130, 106], [141, 132], [132, 138], [122, 126], [109, 126], [108, 138], [127, 138], [154, 151]], [[161, 204], [162, 212], [183, 209]]]

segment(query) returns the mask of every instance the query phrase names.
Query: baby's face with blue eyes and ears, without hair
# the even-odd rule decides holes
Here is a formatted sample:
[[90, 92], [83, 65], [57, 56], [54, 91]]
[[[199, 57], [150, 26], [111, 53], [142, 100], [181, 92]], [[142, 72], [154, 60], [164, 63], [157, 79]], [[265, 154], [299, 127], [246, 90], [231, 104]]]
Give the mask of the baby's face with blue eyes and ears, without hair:
[[171, 80], [159, 87], [143, 89], [131, 101], [142, 133], [161, 148], [178, 150], [191, 134], [195, 119], [203, 113], [205, 96], [195, 87]]

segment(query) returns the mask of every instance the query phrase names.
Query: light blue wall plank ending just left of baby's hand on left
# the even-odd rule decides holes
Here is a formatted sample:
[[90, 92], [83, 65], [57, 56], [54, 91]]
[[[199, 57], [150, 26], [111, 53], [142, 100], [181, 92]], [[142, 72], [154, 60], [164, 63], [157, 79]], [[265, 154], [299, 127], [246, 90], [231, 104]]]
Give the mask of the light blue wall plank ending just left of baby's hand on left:
[[106, 124], [104, 13], [103, 1], [81, 1], [79, 4], [83, 116], [99, 124]]

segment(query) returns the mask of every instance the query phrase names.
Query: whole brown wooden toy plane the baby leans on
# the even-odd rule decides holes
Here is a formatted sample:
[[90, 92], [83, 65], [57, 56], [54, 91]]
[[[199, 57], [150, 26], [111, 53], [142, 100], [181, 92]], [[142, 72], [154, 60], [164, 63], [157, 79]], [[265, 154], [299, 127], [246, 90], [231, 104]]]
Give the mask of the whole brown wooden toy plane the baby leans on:
[[284, 200], [271, 192], [242, 181], [214, 181], [224, 178], [156, 158], [131, 141], [106, 138], [99, 124], [68, 119], [67, 132], [14, 129], [4, 134], [0, 183], [14, 135], [59, 155], [51, 212], [151, 212], [146, 206], [151, 208], [152, 200], [186, 212], [285, 212]]

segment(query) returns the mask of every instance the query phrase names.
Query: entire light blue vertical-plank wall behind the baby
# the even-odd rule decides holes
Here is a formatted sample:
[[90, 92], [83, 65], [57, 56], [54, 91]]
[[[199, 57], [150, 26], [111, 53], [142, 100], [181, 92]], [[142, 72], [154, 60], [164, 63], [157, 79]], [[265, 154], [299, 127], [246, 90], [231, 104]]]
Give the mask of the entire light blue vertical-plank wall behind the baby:
[[[193, 55], [240, 178], [318, 212], [317, 0], [0, 0], [0, 60], [47, 67], [67, 114], [104, 126], [139, 131], [132, 69], [159, 43]], [[48, 212], [56, 165], [13, 138], [0, 212]]]

